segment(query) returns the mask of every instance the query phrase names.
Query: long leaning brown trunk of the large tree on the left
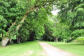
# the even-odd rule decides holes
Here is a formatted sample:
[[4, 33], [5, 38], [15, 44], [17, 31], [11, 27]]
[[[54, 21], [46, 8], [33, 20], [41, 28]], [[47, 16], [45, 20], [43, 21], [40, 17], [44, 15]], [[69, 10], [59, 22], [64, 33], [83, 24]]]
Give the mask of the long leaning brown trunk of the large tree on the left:
[[[25, 13], [25, 15], [23, 16], [22, 20], [20, 21], [20, 24], [16, 27], [16, 30], [17, 30], [17, 31], [18, 31], [19, 28], [22, 26], [22, 23], [24, 23], [24, 21], [25, 21], [27, 15], [28, 15], [28, 13], [31, 12], [31, 11], [33, 11], [34, 9], [36, 9], [36, 8], [31, 8], [30, 11], [27, 11], [27, 12]], [[16, 22], [14, 22], [10, 27], [14, 26], [15, 24], [16, 24]], [[8, 31], [7, 33], [9, 33], [9, 31]], [[5, 47], [5, 46], [7, 45], [7, 43], [9, 42], [9, 40], [10, 40], [10, 39], [7, 38], [7, 37], [2, 38], [2, 43], [1, 43], [2, 46]], [[17, 41], [20, 42], [20, 40], [17, 40]]]

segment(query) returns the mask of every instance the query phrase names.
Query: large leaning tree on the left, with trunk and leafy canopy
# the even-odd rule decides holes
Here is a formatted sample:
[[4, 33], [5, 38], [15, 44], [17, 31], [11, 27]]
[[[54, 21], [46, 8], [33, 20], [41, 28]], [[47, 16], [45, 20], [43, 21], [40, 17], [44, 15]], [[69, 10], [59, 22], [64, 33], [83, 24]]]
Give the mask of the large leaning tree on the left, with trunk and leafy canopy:
[[0, 0], [1, 20], [2, 22], [3, 20], [8, 22], [3, 22], [4, 26], [2, 25], [2, 28], [4, 28], [1, 28], [5, 32], [4, 34], [2, 32], [2, 46], [6, 46], [9, 40], [17, 39], [18, 30], [22, 27], [28, 15], [32, 12], [38, 14], [40, 9], [45, 9], [46, 13], [49, 13], [52, 9], [53, 2], [54, 0]]

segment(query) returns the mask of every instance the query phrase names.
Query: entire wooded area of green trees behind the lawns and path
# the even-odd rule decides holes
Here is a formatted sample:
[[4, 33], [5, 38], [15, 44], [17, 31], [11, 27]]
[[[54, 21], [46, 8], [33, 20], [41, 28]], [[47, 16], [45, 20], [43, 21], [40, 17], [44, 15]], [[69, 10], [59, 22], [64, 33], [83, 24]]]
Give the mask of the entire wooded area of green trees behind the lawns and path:
[[84, 0], [0, 0], [2, 46], [33, 40], [84, 43]]

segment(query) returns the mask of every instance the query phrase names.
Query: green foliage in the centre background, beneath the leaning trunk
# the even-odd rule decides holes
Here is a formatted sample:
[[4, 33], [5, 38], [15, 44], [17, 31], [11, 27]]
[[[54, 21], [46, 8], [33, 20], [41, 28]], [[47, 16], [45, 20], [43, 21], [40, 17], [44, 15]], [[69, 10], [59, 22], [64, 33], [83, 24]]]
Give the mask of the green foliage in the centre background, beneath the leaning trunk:
[[46, 24], [47, 19], [47, 13], [44, 8], [41, 8], [38, 12], [31, 12], [23, 24], [23, 29], [20, 29], [21, 37], [29, 38], [29, 31], [35, 31], [35, 38], [40, 39], [45, 33], [44, 24]]

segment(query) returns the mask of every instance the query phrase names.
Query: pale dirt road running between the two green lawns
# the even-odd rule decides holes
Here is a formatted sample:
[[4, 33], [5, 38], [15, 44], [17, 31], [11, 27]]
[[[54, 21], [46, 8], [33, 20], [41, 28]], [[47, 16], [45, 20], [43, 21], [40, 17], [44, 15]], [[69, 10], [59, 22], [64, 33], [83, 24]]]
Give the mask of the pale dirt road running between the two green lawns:
[[53, 47], [45, 42], [39, 42], [47, 56], [75, 56], [69, 52], [65, 52], [59, 48]]

